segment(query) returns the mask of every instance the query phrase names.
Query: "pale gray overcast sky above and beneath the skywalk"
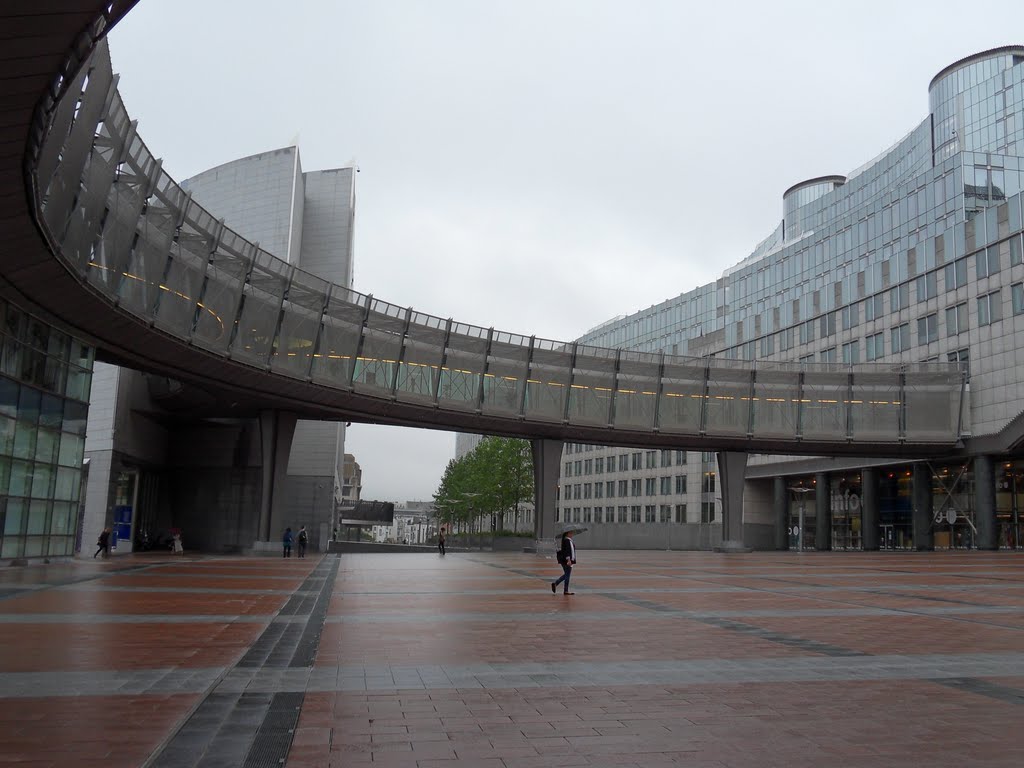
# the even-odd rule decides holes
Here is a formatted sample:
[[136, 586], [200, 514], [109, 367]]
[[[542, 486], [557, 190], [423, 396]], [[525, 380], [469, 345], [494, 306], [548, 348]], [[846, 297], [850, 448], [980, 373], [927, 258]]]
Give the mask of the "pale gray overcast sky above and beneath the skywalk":
[[[1024, 3], [142, 0], [111, 35], [177, 179], [298, 143], [357, 163], [354, 288], [568, 340], [706, 284], [928, 115]], [[451, 433], [355, 425], [364, 498], [429, 498]]]

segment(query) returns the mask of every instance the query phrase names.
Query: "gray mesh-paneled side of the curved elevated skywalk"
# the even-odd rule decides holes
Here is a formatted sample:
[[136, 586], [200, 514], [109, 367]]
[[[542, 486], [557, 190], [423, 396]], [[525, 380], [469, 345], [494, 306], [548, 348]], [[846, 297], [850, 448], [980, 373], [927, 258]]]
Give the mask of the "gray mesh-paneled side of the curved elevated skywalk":
[[37, 109], [30, 197], [81, 290], [140, 321], [147, 338], [261, 372], [267, 386], [287, 379], [293, 398], [353, 420], [383, 414], [391, 423], [604, 444], [791, 454], [924, 455], [959, 440], [966, 391], [954, 365], [603, 349], [478, 328], [331, 285], [193, 201], [138, 136], [105, 42], [78, 50], [85, 65], [70, 54], [68, 76]]

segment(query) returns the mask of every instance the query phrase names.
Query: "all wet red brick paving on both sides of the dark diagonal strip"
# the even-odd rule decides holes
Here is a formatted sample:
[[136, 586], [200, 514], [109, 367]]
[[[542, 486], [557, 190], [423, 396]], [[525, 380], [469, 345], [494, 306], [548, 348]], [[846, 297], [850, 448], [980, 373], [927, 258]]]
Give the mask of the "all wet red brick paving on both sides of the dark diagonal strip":
[[[531, 555], [345, 556], [316, 665], [571, 660], [599, 669], [645, 659], [770, 665], [799, 658], [827, 665], [826, 646], [909, 657], [1024, 652], [1024, 557], [1018, 554], [583, 551], [582, 559], [573, 574], [578, 595], [566, 599], [547, 588], [546, 580], [557, 574], [554, 562]], [[290, 592], [316, 562], [138, 556], [5, 570], [0, 587], [38, 589], [0, 600], [0, 614], [18, 616], [0, 623], [0, 674], [229, 667], [263, 630], [262, 622], [89, 620], [269, 616], [288, 595], [252, 591]], [[145, 564], [152, 567], [124, 571]], [[90, 581], [46, 588], [76, 579]], [[102, 589], [109, 586], [131, 589]], [[738, 591], [701, 591], [722, 587]], [[866, 587], [878, 592], [861, 591]], [[206, 588], [225, 592], [191, 591]], [[972, 605], [1014, 612], [934, 612]], [[651, 606], [737, 611], [726, 622], [793, 642]], [[900, 612], [858, 615], [863, 608]], [[850, 614], [799, 613], [820, 609]], [[647, 610], [650, 617], [643, 615]], [[749, 611], [797, 613], [743, 614]], [[33, 622], [36, 614], [67, 621]], [[955, 667], [950, 670], [955, 676]], [[1020, 768], [1024, 705], [985, 695], [984, 685], [1024, 695], [1024, 676], [979, 683], [958, 688], [897, 675], [882, 681], [307, 692], [288, 765]], [[19, 768], [139, 766], [203, 695], [11, 693], [0, 690], [0, 765]]]

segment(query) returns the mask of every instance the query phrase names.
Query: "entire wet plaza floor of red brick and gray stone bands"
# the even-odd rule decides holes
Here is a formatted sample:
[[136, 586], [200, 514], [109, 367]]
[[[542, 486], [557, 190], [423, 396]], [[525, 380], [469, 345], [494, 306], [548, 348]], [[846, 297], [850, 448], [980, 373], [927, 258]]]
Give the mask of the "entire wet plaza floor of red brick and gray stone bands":
[[1024, 765], [1024, 556], [581, 549], [7, 568], [0, 765]]

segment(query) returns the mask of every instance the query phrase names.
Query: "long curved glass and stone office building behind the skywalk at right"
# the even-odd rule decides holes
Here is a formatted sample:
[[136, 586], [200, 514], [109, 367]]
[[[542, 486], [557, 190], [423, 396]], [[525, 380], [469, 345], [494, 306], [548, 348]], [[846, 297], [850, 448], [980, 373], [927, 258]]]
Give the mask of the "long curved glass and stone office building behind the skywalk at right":
[[[721, 279], [580, 339], [837, 370], [967, 369], [971, 455], [915, 465], [760, 457], [746, 471], [749, 544], [1020, 547], [1024, 46], [955, 61], [932, 80], [929, 101], [931, 113], [881, 156], [787, 189], [778, 227]], [[712, 454], [568, 445], [559, 516], [590, 523], [592, 546], [711, 546], [716, 473]], [[994, 531], [984, 522], [992, 507]], [[927, 525], [914, 525], [913, 509]]]

